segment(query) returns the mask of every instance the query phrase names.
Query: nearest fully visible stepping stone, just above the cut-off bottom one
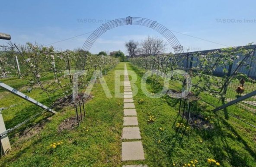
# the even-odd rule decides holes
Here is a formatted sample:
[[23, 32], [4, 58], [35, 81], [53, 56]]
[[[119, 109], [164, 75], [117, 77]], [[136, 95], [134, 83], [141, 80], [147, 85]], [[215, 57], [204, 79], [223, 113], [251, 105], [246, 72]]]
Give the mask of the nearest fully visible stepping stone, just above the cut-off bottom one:
[[142, 142], [122, 142], [122, 161], [144, 160]]

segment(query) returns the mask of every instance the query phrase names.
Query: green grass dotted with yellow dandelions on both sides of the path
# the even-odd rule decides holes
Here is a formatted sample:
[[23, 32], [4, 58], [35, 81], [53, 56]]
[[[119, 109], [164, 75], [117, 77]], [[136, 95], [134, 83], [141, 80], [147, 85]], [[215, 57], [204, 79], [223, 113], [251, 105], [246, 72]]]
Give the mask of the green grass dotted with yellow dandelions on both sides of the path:
[[[209, 166], [207, 159], [213, 158], [225, 167], [256, 166], [255, 129], [233, 117], [225, 118], [222, 111], [211, 113], [209, 111], [211, 107], [198, 103], [194, 105], [193, 112], [199, 112], [204, 117], [212, 116], [214, 128], [208, 130], [190, 128], [182, 137], [182, 131], [176, 128], [176, 123], [181, 123], [181, 117], [177, 117], [179, 100], [166, 96], [154, 99], [145, 96], [140, 87], [144, 71], [131, 66], [130, 63], [126, 64], [128, 70], [135, 72], [129, 76], [130, 79], [137, 76], [137, 80], [131, 81], [131, 86], [133, 90], [136, 90], [135, 87], [138, 88], [134, 103], [146, 158], [145, 161], [136, 161], [136, 164], [170, 167], [175, 163], [179, 167], [196, 159], [198, 161], [196, 166], [205, 167]], [[115, 70], [122, 69], [124, 63], [119, 63], [115, 67]], [[58, 126], [63, 120], [75, 116], [74, 107], [65, 107], [52, 116], [44, 129], [35, 136], [11, 140], [13, 149], [0, 160], [0, 166], [121, 167], [135, 164], [134, 161], [121, 162], [123, 99], [114, 97], [115, 71], [108, 72], [104, 79], [112, 98], [106, 98], [102, 86], [97, 82], [92, 90], [93, 98], [85, 104], [86, 119], [80, 127], [58, 132]], [[17, 86], [22, 87], [23, 84], [26, 85], [24, 82]], [[161, 83], [149, 79], [147, 88], [149, 91], [157, 92], [161, 88]], [[123, 91], [122, 86], [120, 90]], [[38, 92], [33, 95], [32, 92], [34, 98], [42, 100], [40, 102], [44, 99], [42, 95]], [[12, 99], [12, 95], [6, 92], [1, 92], [0, 96], [0, 105], [10, 106], [17, 103], [17, 99]], [[215, 101], [213, 97], [211, 98]], [[19, 106], [22, 107], [23, 104]], [[29, 106], [25, 106], [22, 113], [30, 113], [32, 110]], [[234, 107], [229, 110], [237, 109]], [[14, 113], [11, 112], [12, 110], [8, 110], [8, 113], [7, 110], [3, 111], [6, 112], [4, 117], [7, 120], [7, 127], [17, 123], [19, 118], [15, 115], [19, 114], [18, 108]], [[235, 112], [238, 114], [242, 111]], [[246, 115], [245, 113], [242, 112], [240, 115]], [[154, 116], [155, 120], [148, 123], [150, 116], [151, 118]], [[248, 114], [244, 117], [249, 116]], [[255, 121], [255, 118], [251, 120]], [[52, 149], [50, 145], [54, 142], [63, 142], [63, 144]]]

